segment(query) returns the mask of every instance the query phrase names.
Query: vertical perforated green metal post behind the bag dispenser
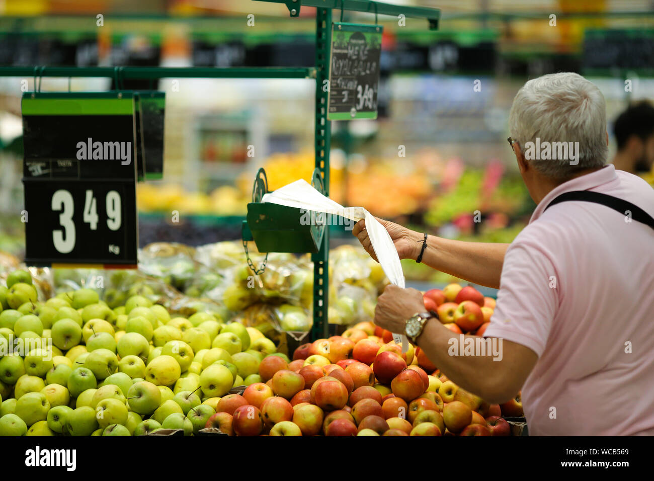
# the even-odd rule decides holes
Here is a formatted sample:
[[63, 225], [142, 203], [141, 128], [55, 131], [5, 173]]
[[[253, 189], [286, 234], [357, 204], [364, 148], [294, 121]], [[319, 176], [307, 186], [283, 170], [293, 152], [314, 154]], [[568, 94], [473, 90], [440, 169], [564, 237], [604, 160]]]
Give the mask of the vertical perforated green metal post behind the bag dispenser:
[[[327, 120], [327, 82], [329, 80], [330, 49], [332, 44], [332, 9], [316, 11], [316, 167], [322, 173], [325, 195], [329, 196], [329, 151], [332, 128]], [[312, 340], [328, 337], [329, 304], [329, 226], [325, 226], [322, 246], [313, 260], [313, 329]]]

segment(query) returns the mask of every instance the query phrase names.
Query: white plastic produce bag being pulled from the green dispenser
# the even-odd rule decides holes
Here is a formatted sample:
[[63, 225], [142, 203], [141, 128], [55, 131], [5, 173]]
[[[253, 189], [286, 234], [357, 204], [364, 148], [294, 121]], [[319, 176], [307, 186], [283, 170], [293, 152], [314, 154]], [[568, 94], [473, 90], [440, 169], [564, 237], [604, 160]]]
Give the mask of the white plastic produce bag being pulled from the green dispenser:
[[[404, 273], [402, 272], [402, 264], [400, 264], [400, 256], [398, 256], [398, 251], [395, 249], [390, 235], [388, 235], [384, 226], [363, 207], [343, 207], [343, 205], [320, 194], [318, 190], [311, 187], [303, 179], [284, 185], [284, 187], [278, 188], [269, 194], [265, 194], [262, 202], [286, 205], [287, 207], [296, 207], [297, 209], [306, 209], [307, 211], [341, 215], [354, 222], [366, 219], [366, 230], [368, 230], [370, 243], [375, 251], [375, 255], [377, 255], [379, 264], [381, 264], [381, 268], [383, 268], [390, 282], [404, 288]], [[393, 334], [393, 338], [397, 344], [402, 344], [402, 352], [406, 352], [409, 348], [409, 341], [406, 336]]]

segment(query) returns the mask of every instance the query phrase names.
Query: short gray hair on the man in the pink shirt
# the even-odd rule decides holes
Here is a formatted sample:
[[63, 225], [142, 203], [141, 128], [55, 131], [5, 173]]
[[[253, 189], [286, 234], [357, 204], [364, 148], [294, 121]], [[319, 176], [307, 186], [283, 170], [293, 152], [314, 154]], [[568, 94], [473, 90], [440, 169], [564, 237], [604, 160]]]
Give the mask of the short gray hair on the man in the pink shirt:
[[523, 154], [525, 145], [536, 144], [537, 139], [551, 145], [578, 142], [574, 162], [566, 156], [528, 158], [547, 177], [566, 179], [576, 171], [606, 164], [606, 102], [593, 82], [577, 73], [551, 73], [526, 82], [513, 99], [509, 131]]

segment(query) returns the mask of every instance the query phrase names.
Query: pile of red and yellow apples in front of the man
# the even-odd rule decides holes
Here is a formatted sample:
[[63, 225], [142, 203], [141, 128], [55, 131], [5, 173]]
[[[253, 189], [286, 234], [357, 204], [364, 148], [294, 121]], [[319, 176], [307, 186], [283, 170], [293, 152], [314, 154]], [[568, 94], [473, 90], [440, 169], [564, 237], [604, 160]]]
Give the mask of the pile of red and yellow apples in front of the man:
[[[463, 306], [463, 314], [446, 325], [479, 332], [485, 298], [458, 285], [453, 294], [452, 286], [442, 300], [433, 298], [440, 291], [428, 291], [426, 307], [433, 302], [438, 312], [453, 296], [450, 304], [460, 300], [455, 312]], [[259, 375], [263, 382], [242, 395], [222, 397], [207, 427], [237, 436], [509, 436], [502, 416], [523, 415], [519, 395], [489, 404], [448, 380], [419, 348], [402, 353], [390, 332], [371, 322], [303, 344], [290, 363], [268, 356]]]

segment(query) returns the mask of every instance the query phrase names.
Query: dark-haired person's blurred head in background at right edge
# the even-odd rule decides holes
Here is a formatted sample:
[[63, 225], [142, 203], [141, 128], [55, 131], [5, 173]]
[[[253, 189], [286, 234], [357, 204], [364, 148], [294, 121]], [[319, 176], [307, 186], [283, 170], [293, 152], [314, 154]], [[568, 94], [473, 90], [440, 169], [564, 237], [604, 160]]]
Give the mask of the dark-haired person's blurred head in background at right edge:
[[613, 124], [617, 152], [613, 166], [618, 170], [652, 177], [654, 181], [654, 107], [641, 101], [630, 105]]

